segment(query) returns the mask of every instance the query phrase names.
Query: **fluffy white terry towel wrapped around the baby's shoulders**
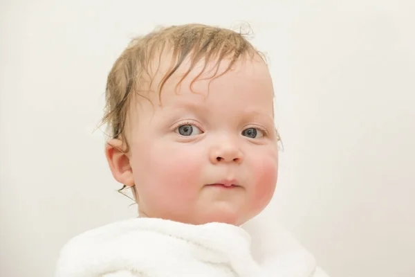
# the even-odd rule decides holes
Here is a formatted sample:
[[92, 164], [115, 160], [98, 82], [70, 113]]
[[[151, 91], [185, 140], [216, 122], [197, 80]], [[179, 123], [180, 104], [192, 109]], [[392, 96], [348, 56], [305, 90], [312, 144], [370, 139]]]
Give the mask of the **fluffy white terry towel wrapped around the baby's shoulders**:
[[240, 227], [137, 218], [73, 238], [56, 277], [325, 276], [297, 244], [284, 249], [255, 260], [250, 235]]

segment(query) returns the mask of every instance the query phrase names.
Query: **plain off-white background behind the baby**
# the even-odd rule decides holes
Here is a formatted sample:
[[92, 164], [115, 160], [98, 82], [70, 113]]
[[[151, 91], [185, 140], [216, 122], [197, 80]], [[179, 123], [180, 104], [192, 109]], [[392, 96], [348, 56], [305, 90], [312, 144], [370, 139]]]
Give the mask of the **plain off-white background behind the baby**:
[[414, 1], [1, 1], [0, 276], [53, 276], [135, 216], [104, 159], [107, 73], [157, 25], [248, 21], [284, 141], [266, 211], [331, 277], [415, 276]]

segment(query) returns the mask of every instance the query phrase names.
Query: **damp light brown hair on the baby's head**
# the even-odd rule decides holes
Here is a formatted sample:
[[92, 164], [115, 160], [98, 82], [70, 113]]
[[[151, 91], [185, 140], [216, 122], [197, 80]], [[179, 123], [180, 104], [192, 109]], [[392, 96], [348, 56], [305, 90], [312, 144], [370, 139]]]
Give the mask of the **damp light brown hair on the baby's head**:
[[[191, 65], [181, 81], [202, 59], [205, 67], [210, 61], [216, 61], [217, 73], [223, 58], [230, 58], [228, 68], [220, 75], [229, 71], [234, 62], [246, 55], [251, 57], [259, 55], [265, 61], [264, 55], [257, 51], [241, 32], [203, 24], [160, 28], [145, 36], [132, 39], [129, 46], [113, 64], [107, 78], [106, 105], [102, 124], [108, 125], [109, 136], [112, 138], [124, 137], [127, 111], [132, 95], [142, 91], [144, 76], [150, 75], [150, 63], [154, 62], [156, 55], [159, 55], [160, 62], [165, 49], [172, 51], [172, 64], [158, 85], [158, 93], [161, 93], [167, 79], [181, 66], [185, 58], [190, 58]], [[214, 78], [220, 76], [216, 73]], [[128, 151], [127, 141], [123, 139], [123, 143], [126, 143], [127, 150], [125, 151]]]

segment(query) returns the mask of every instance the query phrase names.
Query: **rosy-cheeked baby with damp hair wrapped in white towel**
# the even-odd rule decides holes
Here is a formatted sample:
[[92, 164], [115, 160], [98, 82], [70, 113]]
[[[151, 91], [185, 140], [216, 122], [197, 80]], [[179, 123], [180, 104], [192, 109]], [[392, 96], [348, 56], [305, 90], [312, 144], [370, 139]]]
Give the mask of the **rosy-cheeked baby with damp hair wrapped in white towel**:
[[106, 96], [109, 168], [140, 216], [73, 238], [57, 277], [326, 276], [281, 233], [252, 256], [264, 242], [241, 228], [273, 197], [279, 141], [268, 66], [243, 35], [187, 24], [133, 39]]

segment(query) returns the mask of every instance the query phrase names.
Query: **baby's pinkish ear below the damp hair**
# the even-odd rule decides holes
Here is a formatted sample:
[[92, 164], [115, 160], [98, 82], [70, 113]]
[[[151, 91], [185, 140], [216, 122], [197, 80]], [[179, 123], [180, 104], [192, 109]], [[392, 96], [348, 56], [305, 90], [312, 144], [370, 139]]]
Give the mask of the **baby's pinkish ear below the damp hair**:
[[105, 155], [114, 179], [125, 186], [134, 186], [133, 170], [120, 139], [111, 139], [105, 145]]

